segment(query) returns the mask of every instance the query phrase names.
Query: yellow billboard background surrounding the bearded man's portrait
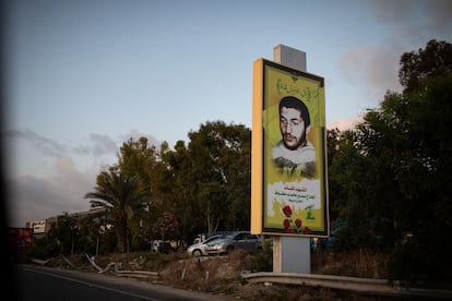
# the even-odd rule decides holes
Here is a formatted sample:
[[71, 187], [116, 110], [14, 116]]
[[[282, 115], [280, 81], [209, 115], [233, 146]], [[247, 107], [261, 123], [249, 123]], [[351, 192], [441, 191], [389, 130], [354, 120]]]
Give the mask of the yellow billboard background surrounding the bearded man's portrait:
[[[299, 234], [299, 236], [326, 236], [328, 234], [328, 193], [326, 193], [326, 170], [325, 170], [325, 107], [324, 107], [324, 81], [322, 77], [306, 72], [292, 70], [274, 62], [258, 60], [254, 63], [254, 99], [253, 99], [253, 135], [261, 135], [262, 139], [253, 137], [253, 149], [261, 147], [262, 170], [260, 179], [262, 183], [257, 184], [259, 174], [252, 170], [252, 191], [261, 189], [262, 193], [252, 193], [261, 197], [261, 205], [252, 197], [252, 208], [260, 210], [260, 214], [252, 213], [252, 224], [262, 225], [252, 228], [261, 230], [262, 233]], [[262, 74], [259, 74], [262, 69]], [[261, 81], [261, 82], [260, 82]], [[262, 88], [260, 93], [260, 88]], [[316, 173], [312, 178], [306, 179], [300, 174], [281, 173], [273, 165], [271, 157], [272, 147], [276, 145], [282, 134], [279, 131], [279, 100], [285, 96], [295, 96], [301, 99], [308, 107], [311, 130], [307, 136], [308, 141], [316, 148]], [[261, 113], [262, 116], [254, 117]], [[259, 131], [255, 129], [261, 127]], [[253, 153], [254, 155], [254, 153]], [[253, 161], [252, 166], [259, 162]], [[258, 168], [257, 168], [258, 170]], [[289, 207], [290, 216], [287, 216]], [[254, 217], [254, 218], [253, 218]], [[290, 219], [290, 227], [284, 226], [286, 219]], [[294, 226], [294, 221], [301, 221], [302, 227]], [[298, 225], [299, 226], [299, 225]]]

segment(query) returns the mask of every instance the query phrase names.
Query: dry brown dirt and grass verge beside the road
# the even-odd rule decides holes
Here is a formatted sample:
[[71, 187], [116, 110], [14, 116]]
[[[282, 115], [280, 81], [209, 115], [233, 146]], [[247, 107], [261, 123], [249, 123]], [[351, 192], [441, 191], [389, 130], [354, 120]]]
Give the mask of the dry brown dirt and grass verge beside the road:
[[[229, 255], [193, 257], [187, 254], [168, 254], [148, 258], [146, 254], [109, 254], [91, 257], [106, 268], [104, 273], [119, 270], [147, 270], [157, 276], [139, 278], [140, 281], [164, 285], [191, 291], [225, 296], [228, 300], [391, 300], [388, 297], [369, 297], [349, 291], [313, 288], [281, 284], [250, 284], [241, 273], [250, 272], [251, 255], [236, 251]], [[112, 264], [115, 263], [115, 264]], [[71, 267], [71, 264], [73, 265]], [[98, 273], [85, 255], [76, 254], [55, 258], [48, 266], [60, 266]], [[110, 267], [107, 269], [107, 267]], [[311, 274], [386, 278], [386, 261], [381, 255], [356, 254], [311, 254]], [[395, 299], [392, 299], [395, 300]]]

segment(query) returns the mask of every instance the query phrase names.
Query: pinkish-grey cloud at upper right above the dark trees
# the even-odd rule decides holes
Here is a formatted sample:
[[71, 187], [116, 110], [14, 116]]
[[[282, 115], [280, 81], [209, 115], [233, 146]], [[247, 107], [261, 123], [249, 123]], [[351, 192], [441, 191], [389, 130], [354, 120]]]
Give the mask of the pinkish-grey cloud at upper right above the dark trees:
[[344, 53], [340, 69], [354, 86], [364, 87], [367, 99], [382, 99], [388, 91], [402, 92], [399, 81], [403, 53], [417, 51], [430, 39], [452, 32], [452, 1], [367, 1], [381, 26], [391, 35], [377, 45], [360, 45]]

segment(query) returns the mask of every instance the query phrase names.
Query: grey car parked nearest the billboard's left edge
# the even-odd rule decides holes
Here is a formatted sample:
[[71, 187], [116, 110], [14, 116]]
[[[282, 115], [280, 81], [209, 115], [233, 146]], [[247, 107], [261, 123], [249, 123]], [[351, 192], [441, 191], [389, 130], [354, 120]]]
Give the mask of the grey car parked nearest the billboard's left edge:
[[262, 249], [262, 241], [259, 236], [249, 231], [237, 231], [231, 234], [215, 239], [209, 243], [207, 253], [227, 254], [233, 250], [242, 250], [247, 253], [254, 253]]

